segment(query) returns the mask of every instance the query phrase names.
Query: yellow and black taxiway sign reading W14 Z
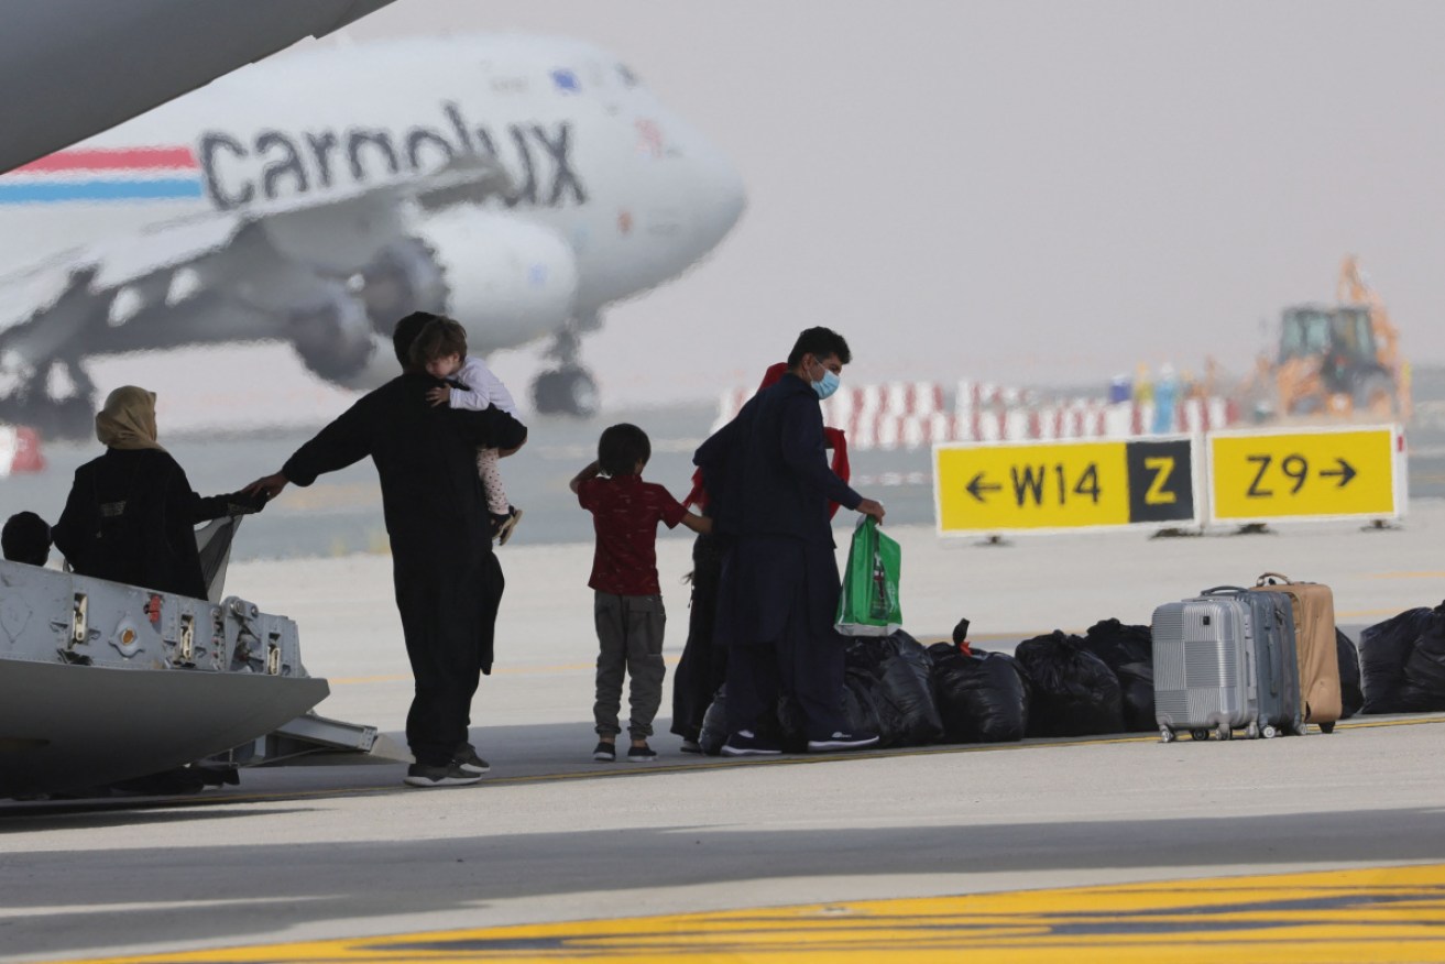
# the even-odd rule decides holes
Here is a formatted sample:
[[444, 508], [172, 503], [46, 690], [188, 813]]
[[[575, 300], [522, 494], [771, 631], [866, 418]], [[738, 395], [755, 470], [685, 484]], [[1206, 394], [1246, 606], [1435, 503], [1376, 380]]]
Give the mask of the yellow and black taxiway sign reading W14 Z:
[[1186, 435], [936, 445], [938, 532], [1198, 525], [1196, 464]]

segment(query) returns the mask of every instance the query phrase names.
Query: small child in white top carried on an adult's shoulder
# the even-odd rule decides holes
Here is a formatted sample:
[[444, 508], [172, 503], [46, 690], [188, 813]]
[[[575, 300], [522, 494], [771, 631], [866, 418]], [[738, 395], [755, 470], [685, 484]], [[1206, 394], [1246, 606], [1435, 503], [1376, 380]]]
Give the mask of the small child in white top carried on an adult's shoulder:
[[[516, 418], [517, 406], [512, 393], [487, 363], [467, 354], [467, 330], [451, 318], [436, 318], [428, 322], [412, 344], [412, 363], [426, 369], [434, 379], [447, 382], [448, 387], [436, 386], [426, 393], [435, 405], [449, 405], [454, 409], [483, 410], [496, 405]], [[477, 449], [477, 474], [487, 494], [487, 513], [491, 516], [491, 535], [500, 545], [507, 545], [512, 532], [522, 520], [522, 510], [507, 500], [497, 470], [500, 454], [494, 448]]]

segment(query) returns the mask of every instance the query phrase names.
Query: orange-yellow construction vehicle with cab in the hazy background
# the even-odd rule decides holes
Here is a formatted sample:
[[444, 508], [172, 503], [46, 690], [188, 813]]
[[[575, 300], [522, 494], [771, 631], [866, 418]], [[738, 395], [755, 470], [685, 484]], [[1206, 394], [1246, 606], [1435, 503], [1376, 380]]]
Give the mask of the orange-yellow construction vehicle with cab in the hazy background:
[[1282, 416], [1409, 421], [1409, 364], [1400, 334], [1360, 262], [1345, 257], [1337, 305], [1293, 305], [1282, 315], [1279, 354], [1261, 358]]

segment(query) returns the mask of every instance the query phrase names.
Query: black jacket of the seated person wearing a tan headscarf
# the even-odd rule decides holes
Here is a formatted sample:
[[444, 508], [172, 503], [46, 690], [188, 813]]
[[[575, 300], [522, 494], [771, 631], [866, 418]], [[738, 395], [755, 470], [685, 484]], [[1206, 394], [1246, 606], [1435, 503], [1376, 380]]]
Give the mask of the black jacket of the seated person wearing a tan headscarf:
[[197, 523], [257, 509], [241, 494], [195, 494], [168, 452], [108, 448], [75, 470], [52, 535], [81, 575], [204, 600]]

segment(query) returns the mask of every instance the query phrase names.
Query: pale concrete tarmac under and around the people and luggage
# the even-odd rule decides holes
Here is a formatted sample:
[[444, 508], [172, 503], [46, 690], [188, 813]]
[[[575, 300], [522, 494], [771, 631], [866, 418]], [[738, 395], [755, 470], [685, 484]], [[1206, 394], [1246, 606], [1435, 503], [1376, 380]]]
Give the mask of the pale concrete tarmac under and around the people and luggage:
[[[845, 535], [848, 520], [840, 523]], [[1332, 585], [1340, 621], [1354, 630], [1445, 597], [1445, 503], [1426, 500], [1396, 530], [1324, 523], [1263, 536], [1123, 532], [984, 546], [941, 542], [928, 526], [890, 529], [903, 543], [906, 626], [942, 636], [968, 616], [985, 646], [1105, 617], [1147, 621], [1159, 603], [1264, 569]], [[689, 545], [659, 542], [673, 658]], [[501, 549], [499, 663], [474, 705], [473, 737], [493, 763], [481, 785], [403, 789], [403, 767], [390, 763], [249, 770], [237, 788], [169, 801], [0, 804], [0, 957], [415, 960], [449, 948], [436, 960], [678, 960], [702, 950], [884, 960], [864, 945], [809, 950], [806, 939], [749, 950], [728, 938], [720, 950], [709, 944], [720, 938], [698, 938], [663, 954], [649, 941], [683, 925], [650, 915], [756, 921], [762, 908], [827, 905], [814, 913], [841, 926], [881, 913], [861, 900], [1025, 892], [1009, 899], [1045, 913], [1066, 905], [1059, 887], [1224, 886], [1243, 874], [1267, 892], [1260, 874], [1353, 870], [1379, 882], [1406, 873], [1390, 867], [1445, 864], [1445, 715], [1366, 717], [1303, 739], [1162, 744], [1143, 734], [764, 762], [683, 756], [676, 737], [659, 736], [656, 765], [594, 763], [590, 558], [585, 543]], [[299, 621], [308, 669], [332, 687], [319, 713], [400, 739], [410, 676], [387, 556], [243, 562], [228, 591]], [[666, 718], [657, 728], [666, 733]], [[1418, 903], [1438, 892], [1410, 887], [1400, 893]], [[1327, 947], [1345, 948], [1328, 941], [1358, 931], [1348, 954], [1316, 947], [1311, 960], [1445, 955], [1445, 934], [1428, 922], [1400, 957], [1383, 951], [1383, 932], [1354, 905], [1308, 906], [1335, 928], [1319, 938]], [[1240, 952], [1256, 948], [1244, 937], [1201, 952], [1196, 941], [1225, 938], [1214, 916], [1189, 908], [1175, 909], [1140, 960], [1254, 960]], [[949, 913], [957, 924], [964, 911]], [[1416, 915], [1436, 928], [1445, 919], [1439, 909]], [[1013, 932], [1010, 952], [1029, 960], [1064, 941], [1051, 947], [1066, 960], [1124, 960], [1118, 942], [1137, 941], [1129, 928], [1142, 926], [1131, 919], [1087, 941], [1074, 925], [1035, 924]], [[630, 937], [603, 952], [509, 929], [549, 922]], [[371, 935], [402, 938], [381, 948]], [[342, 944], [325, 944], [334, 939]], [[900, 929], [886, 960], [957, 960], [929, 958], [939, 952], [929, 939], [923, 928]], [[270, 947], [296, 941], [321, 944]], [[980, 960], [1003, 960], [998, 947]]]

